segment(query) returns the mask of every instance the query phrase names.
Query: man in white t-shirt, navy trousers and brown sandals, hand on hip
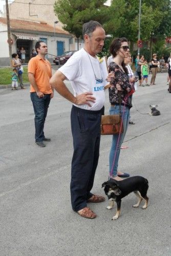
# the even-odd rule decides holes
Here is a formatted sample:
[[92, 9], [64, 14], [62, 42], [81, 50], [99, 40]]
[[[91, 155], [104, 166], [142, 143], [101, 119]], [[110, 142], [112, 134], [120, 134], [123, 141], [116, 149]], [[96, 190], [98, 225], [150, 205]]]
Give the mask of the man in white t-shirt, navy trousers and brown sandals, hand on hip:
[[[74, 153], [71, 168], [71, 203], [74, 211], [84, 218], [94, 219], [96, 214], [87, 202], [99, 203], [102, 196], [93, 195], [94, 176], [99, 158], [100, 122], [104, 108], [104, 87], [108, 71], [105, 61], [99, 62], [97, 53], [104, 45], [105, 31], [101, 24], [91, 20], [83, 24], [84, 48], [74, 53], [52, 76], [55, 90], [73, 103], [71, 129]], [[72, 94], [65, 83], [71, 81]]]

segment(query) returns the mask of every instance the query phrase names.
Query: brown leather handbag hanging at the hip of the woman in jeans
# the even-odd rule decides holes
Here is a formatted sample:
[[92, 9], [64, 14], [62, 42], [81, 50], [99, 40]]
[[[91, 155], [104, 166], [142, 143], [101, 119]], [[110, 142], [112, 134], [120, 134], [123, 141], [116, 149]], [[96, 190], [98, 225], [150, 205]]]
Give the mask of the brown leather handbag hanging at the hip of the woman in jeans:
[[102, 115], [101, 116], [101, 135], [113, 135], [123, 133], [123, 122], [121, 118], [121, 98], [119, 97], [118, 115]]

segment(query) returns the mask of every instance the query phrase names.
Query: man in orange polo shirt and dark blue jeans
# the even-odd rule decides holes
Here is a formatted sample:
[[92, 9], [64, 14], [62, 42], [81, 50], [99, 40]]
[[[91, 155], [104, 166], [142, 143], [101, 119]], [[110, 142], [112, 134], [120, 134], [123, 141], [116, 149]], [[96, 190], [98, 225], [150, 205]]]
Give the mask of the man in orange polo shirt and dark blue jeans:
[[50, 85], [52, 70], [50, 62], [45, 59], [48, 53], [44, 41], [37, 41], [35, 45], [37, 56], [31, 58], [28, 63], [28, 77], [30, 81], [30, 97], [35, 114], [35, 142], [40, 147], [45, 147], [44, 141], [50, 141], [44, 135], [44, 124], [48, 113], [53, 88]]

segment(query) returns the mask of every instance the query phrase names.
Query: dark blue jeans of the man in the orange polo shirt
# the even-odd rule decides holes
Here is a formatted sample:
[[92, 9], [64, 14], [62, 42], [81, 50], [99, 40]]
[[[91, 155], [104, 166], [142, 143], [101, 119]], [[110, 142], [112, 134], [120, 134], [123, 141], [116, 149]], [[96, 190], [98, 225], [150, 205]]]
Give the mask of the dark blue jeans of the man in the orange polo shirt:
[[45, 138], [44, 124], [48, 113], [51, 94], [44, 94], [43, 98], [39, 98], [36, 94], [30, 93], [31, 101], [34, 108], [34, 122], [35, 122], [35, 141], [42, 141]]

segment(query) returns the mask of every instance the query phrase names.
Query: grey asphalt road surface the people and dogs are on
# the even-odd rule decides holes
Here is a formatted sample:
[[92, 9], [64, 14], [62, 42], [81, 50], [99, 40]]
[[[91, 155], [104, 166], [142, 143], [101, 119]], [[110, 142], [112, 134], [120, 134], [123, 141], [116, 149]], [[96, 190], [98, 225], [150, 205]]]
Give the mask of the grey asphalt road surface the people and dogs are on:
[[[71, 103], [55, 93], [45, 124], [52, 139], [45, 148], [34, 142], [34, 113], [27, 90], [0, 90], [0, 255], [171, 255], [170, 166], [171, 94], [166, 73], [156, 86], [141, 87], [134, 95], [119, 169], [148, 179], [147, 209], [133, 208], [134, 194], [122, 200], [121, 216], [108, 201], [90, 204], [94, 220], [72, 211], [70, 175], [73, 152]], [[69, 86], [70, 88], [70, 86]], [[158, 104], [160, 116], [149, 116]], [[138, 111], [136, 110], [138, 109]], [[108, 113], [106, 91], [105, 112]], [[111, 136], [101, 137], [93, 193], [104, 195], [108, 178]]]

